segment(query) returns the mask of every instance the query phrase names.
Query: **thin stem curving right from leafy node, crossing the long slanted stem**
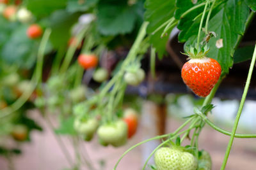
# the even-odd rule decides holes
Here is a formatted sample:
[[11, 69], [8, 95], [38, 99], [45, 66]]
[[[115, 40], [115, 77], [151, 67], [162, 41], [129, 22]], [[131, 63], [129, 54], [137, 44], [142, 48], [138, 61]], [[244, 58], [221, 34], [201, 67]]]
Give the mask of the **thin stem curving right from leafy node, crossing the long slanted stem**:
[[[218, 132], [221, 132], [222, 134], [226, 134], [228, 136], [231, 136], [231, 132], [225, 131], [224, 129], [221, 129], [217, 125], [214, 125], [207, 117], [205, 117], [204, 114], [198, 114], [202, 118], [202, 120], [212, 127], [212, 129], [215, 129]], [[256, 138], [256, 134], [235, 134], [235, 138]]]

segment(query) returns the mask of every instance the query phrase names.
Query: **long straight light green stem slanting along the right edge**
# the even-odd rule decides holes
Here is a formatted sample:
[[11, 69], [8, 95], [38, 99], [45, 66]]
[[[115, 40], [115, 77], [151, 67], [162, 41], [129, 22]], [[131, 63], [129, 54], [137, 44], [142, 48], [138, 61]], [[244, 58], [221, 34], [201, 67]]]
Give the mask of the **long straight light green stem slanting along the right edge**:
[[226, 164], [227, 164], [228, 155], [230, 153], [230, 150], [231, 150], [231, 147], [232, 147], [232, 143], [234, 141], [237, 125], [238, 125], [239, 119], [241, 117], [241, 113], [242, 113], [242, 110], [243, 110], [244, 102], [245, 102], [246, 95], [247, 95], [247, 92], [248, 92], [248, 89], [249, 89], [249, 85], [250, 85], [250, 81], [251, 81], [251, 78], [252, 78], [253, 67], [255, 65], [255, 59], [256, 59], [256, 45], [255, 45], [255, 49], [254, 49], [254, 52], [253, 52], [253, 57], [252, 57], [252, 62], [251, 62], [251, 65], [250, 65], [248, 77], [247, 77], [246, 84], [245, 84], [245, 87], [244, 87], [243, 96], [242, 96], [242, 99], [241, 99], [241, 103], [239, 105], [239, 109], [237, 111], [236, 120], [235, 120], [235, 123], [234, 123], [234, 127], [232, 129], [232, 132], [231, 132], [230, 140], [228, 142], [228, 147], [227, 147], [227, 150], [226, 150], [226, 153], [225, 153], [225, 157], [224, 157], [224, 160], [223, 160], [223, 163], [222, 163], [222, 166], [221, 166], [221, 170], [224, 170], [225, 167], [226, 167]]

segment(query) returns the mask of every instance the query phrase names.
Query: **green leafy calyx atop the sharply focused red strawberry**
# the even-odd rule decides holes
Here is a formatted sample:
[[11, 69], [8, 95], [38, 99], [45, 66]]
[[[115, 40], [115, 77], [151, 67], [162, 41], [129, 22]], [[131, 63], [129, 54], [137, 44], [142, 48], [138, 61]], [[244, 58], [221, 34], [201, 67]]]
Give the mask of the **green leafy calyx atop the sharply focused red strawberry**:
[[198, 48], [195, 48], [193, 46], [190, 46], [186, 49], [186, 53], [182, 53], [184, 55], [188, 56], [189, 59], [204, 59], [205, 55], [209, 52], [209, 46], [198, 46]]

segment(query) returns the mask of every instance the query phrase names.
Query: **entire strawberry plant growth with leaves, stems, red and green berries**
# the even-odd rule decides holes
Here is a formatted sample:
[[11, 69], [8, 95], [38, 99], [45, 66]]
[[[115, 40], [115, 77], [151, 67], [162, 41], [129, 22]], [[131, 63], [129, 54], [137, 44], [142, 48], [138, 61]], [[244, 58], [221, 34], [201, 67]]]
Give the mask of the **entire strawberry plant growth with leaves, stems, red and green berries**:
[[[35, 106], [54, 131], [70, 168], [83, 168], [83, 162], [95, 169], [87, 159], [81, 160], [79, 143], [97, 140], [102, 146], [120, 147], [136, 134], [140, 120], [131, 106], [125, 109], [127, 87], [150, 85], [148, 81], [157, 75], [157, 62], [167, 52], [175, 58], [170, 44], [177, 34], [179, 43], [184, 43], [183, 58], [188, 57], [183, 66], [179, 57], [174, 59], [180, 65], [180, 80], [204, 102], [174, 132], [129, 148], [114, 169], [128, 152], [157, 139], [162, 143], [148, 155], [142, 169], [211, 169], [211, 155], [198, 146], [207, 124], [230, 136], [223, 170], [234, 138], [256, 138], [236, 133], [256, 59], [256, 46], [239, 45], [255, 11], [253, 0], [0, 1], [3, 134], [21, 142], [29, 140], [32, 129], [41, 130], [22, 114]], [[143, 64], [147, 59], [150, 74]], [[232, 66], [246, 60], [251, 60], [248, 78], [232, 132], [228, 132], [207, 116], [218, 107], [212, 99]], [[76, 161], [70, 159], [60, 135], [72, 141]], [[186, 139], [189, 145], [182, 146]], [[10, 159], [13, 150], [4, 148], [3, 153]], [[148, 166], [153, 155], [155, 165]]]

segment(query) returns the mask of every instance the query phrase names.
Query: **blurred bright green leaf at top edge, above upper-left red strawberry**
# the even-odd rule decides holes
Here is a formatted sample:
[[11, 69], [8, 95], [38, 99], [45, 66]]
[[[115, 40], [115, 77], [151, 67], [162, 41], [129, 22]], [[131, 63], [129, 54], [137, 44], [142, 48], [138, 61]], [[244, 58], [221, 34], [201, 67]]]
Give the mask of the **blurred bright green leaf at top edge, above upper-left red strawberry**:
[[53, 11], [65, 8], [67, 0], [27, 0], [26, 6], [36, 17], [49, 16]]

